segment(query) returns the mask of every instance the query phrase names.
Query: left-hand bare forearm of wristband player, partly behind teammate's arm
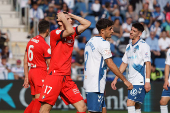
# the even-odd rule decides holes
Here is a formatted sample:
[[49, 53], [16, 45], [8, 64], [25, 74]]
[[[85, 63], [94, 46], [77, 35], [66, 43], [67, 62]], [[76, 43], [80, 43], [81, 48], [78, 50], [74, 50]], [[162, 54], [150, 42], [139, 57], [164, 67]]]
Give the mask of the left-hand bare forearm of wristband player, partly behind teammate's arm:
[[[122, 62], [122, 64], [119, 67], [120, 72], [123, 73], [126, 70], [127, 66], [128, 66], [128, 64]], [[111, 83], [111, 87], [113, 90], [117, 89], [116, 88], [117, 79], [118, 79], [118, 77], [116, 76], [115, 79], [113, 80], [113, 82]]]

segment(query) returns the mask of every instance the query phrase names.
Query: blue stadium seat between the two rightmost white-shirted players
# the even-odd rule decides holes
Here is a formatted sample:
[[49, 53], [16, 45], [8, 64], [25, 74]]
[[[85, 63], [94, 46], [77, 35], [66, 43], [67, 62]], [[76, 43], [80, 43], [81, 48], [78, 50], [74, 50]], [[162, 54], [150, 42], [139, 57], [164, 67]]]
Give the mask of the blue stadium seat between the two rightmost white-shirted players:
[[155, 66], [156, 68], [165, 68], [165, 58], [156, 58], [155, 59]]

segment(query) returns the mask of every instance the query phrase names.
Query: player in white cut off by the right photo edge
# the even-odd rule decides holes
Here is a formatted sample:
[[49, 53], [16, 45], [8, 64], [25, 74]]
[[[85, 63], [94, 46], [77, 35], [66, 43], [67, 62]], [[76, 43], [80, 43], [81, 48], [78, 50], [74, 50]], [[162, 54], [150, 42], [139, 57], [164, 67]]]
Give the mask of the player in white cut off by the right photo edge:
[[165, 61], [165, 80], [163, 85], [162, 97], [160, 100], [160, 110], [161, 113], [168, 113], [168, 101], [170, 100], [170, 77], [169, 77], [169, 67], [170, 67], [170, 49], [168, 49]]

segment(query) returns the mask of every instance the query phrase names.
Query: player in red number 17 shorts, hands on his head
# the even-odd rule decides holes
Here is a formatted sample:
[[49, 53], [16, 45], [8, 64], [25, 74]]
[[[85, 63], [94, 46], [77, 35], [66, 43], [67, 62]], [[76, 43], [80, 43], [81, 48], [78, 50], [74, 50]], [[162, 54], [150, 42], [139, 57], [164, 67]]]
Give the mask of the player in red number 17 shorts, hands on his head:
[[[72, 19], [79, 21], [80, 25], [72, 27]], [[51, 63], [48, 75], [39, 98], [42, 102], [40, 113], [49, 113], [58, 96], [65, 104], [73, 104], [78, 112], [85, 113], [86, 105], [77, 85], [72, 81], [71, 59], [74, 38], [86, 30], [91, 22], [67, 12], [57, 13], [59, 28], [51, 31]]]

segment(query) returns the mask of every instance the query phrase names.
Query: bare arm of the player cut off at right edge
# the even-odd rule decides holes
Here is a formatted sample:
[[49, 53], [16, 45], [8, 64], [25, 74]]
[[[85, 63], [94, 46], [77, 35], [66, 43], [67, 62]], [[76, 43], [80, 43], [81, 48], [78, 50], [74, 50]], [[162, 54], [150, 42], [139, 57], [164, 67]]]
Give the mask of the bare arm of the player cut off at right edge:
[[169, 76], [169, 65], [165, 65], [165, 79], [164, 79], [164, 85], [163, 88], [165, 90], [168, 90], [169, 82], [168, 82], [168, 76]]

